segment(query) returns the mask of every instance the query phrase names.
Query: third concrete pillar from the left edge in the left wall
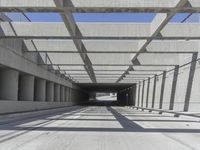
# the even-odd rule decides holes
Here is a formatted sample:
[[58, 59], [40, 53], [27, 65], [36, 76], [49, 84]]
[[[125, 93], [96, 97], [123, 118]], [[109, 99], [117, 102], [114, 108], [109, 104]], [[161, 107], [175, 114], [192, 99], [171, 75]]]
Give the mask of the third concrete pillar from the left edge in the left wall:
[[35, 78], [34, 100], [46, 100], [46, 81], [43, 79]]

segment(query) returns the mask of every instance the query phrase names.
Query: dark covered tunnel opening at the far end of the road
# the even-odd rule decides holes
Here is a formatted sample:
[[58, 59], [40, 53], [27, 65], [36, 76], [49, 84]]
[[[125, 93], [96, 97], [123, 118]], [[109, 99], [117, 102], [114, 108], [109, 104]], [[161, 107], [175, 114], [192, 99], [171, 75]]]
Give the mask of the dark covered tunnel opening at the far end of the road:
[[[136, 84], [79, 84], [89, 94], [89, 106], [134, 106]], [[101, 94], [105, 94], [101, 96]], [[100, 99], [98, 97], [101, 97]]]

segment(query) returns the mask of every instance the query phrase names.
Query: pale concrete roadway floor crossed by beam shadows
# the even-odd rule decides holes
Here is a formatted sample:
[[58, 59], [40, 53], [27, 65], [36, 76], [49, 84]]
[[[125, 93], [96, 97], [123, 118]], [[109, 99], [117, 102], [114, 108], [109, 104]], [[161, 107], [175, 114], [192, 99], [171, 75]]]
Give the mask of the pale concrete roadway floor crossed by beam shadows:
[[199, 119], [91, 106], [0, 125], [0, 150], [134, 149], [199, 150]]

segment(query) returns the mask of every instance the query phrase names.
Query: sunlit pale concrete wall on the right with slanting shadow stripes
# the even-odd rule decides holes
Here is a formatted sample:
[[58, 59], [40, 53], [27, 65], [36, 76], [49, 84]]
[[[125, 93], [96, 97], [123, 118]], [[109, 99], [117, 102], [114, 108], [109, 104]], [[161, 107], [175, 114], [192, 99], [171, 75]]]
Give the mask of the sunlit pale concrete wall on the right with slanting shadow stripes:
[[[200, 100], [199, 100], [200, 98], [200, 76], [199, 76], [200, 63], [196, 61], [196, 59], [197, 57], [195, 56], [195, 53], [193, 54], [192, 60], [190, 58], [190, 61], [187, 57], [185, 58], [180, 57], [179, 61], [180, 61], [180, 64], [182, 65], [176, 66], [176, 69], [174, 68], [173, 70], [166, 73], [166, 77], [164, 78], [165, 84], [163, 85], [164, 89], [163, 89], [162, 109], [169, 110], [171, 107], [171, 110], [175, 110], [175, 111], [199, 112], [200, 110]], [[191, 63], [186, 63], [186, 62], [191, 62]], [[150, 80], [148, 108], [151, 108], [152, 100], [154, 100], [154, 108], [160, 107], [163, 74], [157, 77], [156, 88], [155, 88], [156, 89], [155, 98], [153, 99], [154, 78], [151, 78]], [[139, 83], [137, 84], [136, 87], [139, 88]], [[138, 92], [136, 93], [137, 94], [136, 97], [137, 98], [140, 97], [139, 103], [142, 102], [141, 89], [142, 89], [142, 84], [141, 84], [139, 95], [138, 95]], [[147, 89], [147, 86], [145, 86], [145, 89]], [[137, 89], [137, 91], [138, 90], [139, 89]], [[139, 106], [141, 106], [141, 104]]]

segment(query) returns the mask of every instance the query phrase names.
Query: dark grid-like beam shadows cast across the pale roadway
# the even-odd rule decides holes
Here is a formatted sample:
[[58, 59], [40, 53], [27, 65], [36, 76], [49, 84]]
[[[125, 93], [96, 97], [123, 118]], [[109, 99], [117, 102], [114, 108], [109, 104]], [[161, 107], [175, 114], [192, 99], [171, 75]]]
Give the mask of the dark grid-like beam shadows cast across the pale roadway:
[[[73, 113], [80, 112], [80, 110], [77, 110]], [[94, 112], [94, 111], [93, 111]], [[62, 131], [62, 132], [146, 132], [146, 133], [156, 133], [156, 132], [169, 132], [169, 133], [200, 133], [200, 129], [175, 129], [175, 128], [143, 128], [134, 121], [140, 121], [140, 120], [130, 120], [124, 115], [119, 113], [117, 110], [107, 107], [107, 112], [110, 112], [115, 119], [111, 119], [110, 121], [118, 121], [122, 128], [96, 128], [96, 127], [46, 127], [46, 125], [51, 124], [52, 121], [62, 120], [64, 119], [65, 115], [61, 115], [61, 117], [55, 118], [55, 119], [47, 119], [46, 122], [43, 122], [42, 124], [37, 124], [37, 126], [33, 127], [21, 127], [17, 125], [10, 125], [10, 126], [3, 126], [0, 127], [0, 130], [13, 130], [13, 131], [25, 131], [23, 134], [30, 132], [30, 131]], [[69, 114], [68, 114], [69, 115]], [[111, 115], [111, 116], [112, 116]], [[82, 116], [82, 115], [81, 115]], [[69, 120], [69, 119], [64, 119]], [[80, 120], [75, 119], [75, 120]], [[83, 120], [83, 119], [82, 119]], [[94, 119], [84, 119], [84, 121], [90, 121]], [[95, 119], [95, 121], [108, 121], [109, 119]], [[144, 120], [142, 120], [144, 121]], [[152, 120], [149, 120], [152, 121]], [[155, 120], [154, 120], [155, 121]], [[156, 121], [166, 121], [167, 120], [156, 120]], [[174, 121], [176, 120], [168, 120], [168, 121]], [[183, 120], [181, 120], [183, 121]], [[177, 120], [179, 122], [179, 120]], [[21, 135], [21, 134], [20, 134]]]

